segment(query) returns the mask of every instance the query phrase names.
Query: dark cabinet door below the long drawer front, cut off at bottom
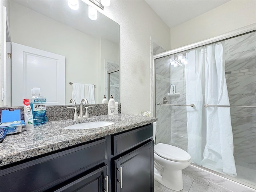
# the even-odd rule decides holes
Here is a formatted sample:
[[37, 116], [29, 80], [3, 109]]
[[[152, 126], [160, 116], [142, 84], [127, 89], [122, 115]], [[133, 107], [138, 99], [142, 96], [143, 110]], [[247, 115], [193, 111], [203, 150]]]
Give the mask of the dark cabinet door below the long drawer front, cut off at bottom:
[[86, 174], [55, 192], [108, 192], [107, 165]]

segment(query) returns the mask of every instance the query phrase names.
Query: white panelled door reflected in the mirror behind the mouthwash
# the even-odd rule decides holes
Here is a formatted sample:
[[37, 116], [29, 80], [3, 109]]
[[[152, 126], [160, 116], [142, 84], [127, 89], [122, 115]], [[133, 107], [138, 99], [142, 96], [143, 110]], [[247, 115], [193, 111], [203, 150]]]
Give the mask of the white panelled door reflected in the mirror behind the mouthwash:
[[21, 106], [33, 87], [46, 105], [65, 104], [65, 57], [12, 42], [12, 106]]

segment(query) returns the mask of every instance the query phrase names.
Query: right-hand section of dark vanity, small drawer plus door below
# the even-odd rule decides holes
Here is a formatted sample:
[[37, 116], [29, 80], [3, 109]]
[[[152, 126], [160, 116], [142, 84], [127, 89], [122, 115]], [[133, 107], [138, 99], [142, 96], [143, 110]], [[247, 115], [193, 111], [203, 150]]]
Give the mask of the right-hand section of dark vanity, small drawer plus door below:
[[113, 136], [116, 192], [153, 192], [153, 127], [144, 126]]

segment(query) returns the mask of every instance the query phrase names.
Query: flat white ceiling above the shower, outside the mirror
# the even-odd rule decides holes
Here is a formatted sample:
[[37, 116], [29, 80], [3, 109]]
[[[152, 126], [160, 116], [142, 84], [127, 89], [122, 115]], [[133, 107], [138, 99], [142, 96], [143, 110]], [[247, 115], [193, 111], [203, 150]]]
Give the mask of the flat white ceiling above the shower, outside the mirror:
[[145, 0], [173, 28], [230, 0]]

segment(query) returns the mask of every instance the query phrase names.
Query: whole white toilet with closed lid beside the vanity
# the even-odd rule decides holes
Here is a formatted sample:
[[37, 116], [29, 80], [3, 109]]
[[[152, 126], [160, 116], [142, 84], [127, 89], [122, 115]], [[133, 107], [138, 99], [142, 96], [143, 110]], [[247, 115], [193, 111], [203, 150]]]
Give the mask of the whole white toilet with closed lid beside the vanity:
[[[156, 122], [153, 130], [155, 140]], [[171, 190], [182, 190], [181, 170], [190, 165], [190, 159], [190, 154], [178, 147], [163, 143], [154, 145], [154, 179]]]

